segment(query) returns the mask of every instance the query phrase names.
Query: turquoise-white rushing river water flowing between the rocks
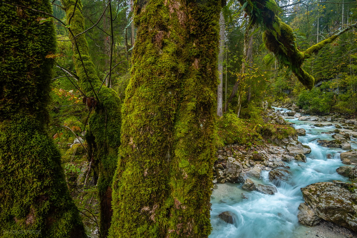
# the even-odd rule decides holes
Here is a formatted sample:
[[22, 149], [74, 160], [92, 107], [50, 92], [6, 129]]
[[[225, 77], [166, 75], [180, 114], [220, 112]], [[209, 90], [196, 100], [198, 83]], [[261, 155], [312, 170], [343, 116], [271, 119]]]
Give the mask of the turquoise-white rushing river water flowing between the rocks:
[[[290, 110], [284, 109], [282, 112], [287, 111]], [[312, 152], [306, 155], [307, 162], [296, 160], [285, 162], [291, 171], [286, 182], [272, 183], [268, 179], [269, 171], [265, 170], [262, 171], [260, 179], [250, 178], [255, 184], [276, 186], [277, 193], [275, 195], [243, 190], [240, 183], [217, 184], [218, 188], [213, 190], [211, 196], [213, 231], [210, 238], [306, 237], [309, 229], [312, 228], [301, 225], [297, 219], [298, 206], [304, 202], [300, 188], [317, 182], [349, 180], [336, 172], [338, 167], [346, 166], [340, 160], [340, 153], [345, 151], [317, 145], [317, 140], [334, 140], [331, 135], [321, 134], [321, 132], [333, 131], [336, 129], [335, 126], [314, 127], [313, 124], [317, 122], [298, 121], [297, 119], [286, 119], [286, 121], [296, 123], [293, 125], [296, 129], [304, 128], [306, 130], [306, 136], [299, 136], [298, 140], [311, 147]], [[351, 148], [357, 149], [356, 138], [351, 139]], [[242, 198], [242, 193], [248, 199]], [[228, 224], [217, 217], [218, 214], [225, 211], [233, 214], [234, 224]]]

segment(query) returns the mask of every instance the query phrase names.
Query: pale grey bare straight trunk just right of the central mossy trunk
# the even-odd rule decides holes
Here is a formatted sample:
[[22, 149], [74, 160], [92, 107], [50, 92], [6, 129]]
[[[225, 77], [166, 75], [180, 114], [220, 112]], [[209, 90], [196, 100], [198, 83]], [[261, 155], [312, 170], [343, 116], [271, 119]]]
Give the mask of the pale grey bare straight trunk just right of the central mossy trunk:
[[222, 12], [220, 13], [220, 52], [218, 54], [218, 77], [220, 84], [217, 88], [217, 116], [221, 117], [223, 107], [223, 53], [224, 53], [224, 30], [225, 21]]

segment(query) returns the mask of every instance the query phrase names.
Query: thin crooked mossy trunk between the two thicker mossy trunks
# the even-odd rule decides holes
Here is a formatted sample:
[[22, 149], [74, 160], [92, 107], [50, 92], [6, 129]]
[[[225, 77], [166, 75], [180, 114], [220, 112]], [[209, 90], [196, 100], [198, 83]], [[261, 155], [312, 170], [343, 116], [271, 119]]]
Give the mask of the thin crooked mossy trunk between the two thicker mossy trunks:
[[[66, 15], [67, 24], [71, 25], [70, 39], [83, 32], [84, 17], [81, 13], [82, 2], [75, 0], [62, 1]], [[74, 14], [73, 14], [74, 12]], [[73, 14], [73, 17], [71, 17]], [[68, 22], [71, 19], [71, 22]], [[85, 34], [81, 34], [72, 40], [74, 52], [74, 65], [81, 90], [87, 97], [94, 97], [98, 92], [101, 81], [96, 74], [94, 64], [89, 56], [88, 44]], [[77, 50], [77, 47], [79, 48]], [[80, 53], [80, 54], [79, 54]], [[94, 89], [94, 91], [93, 91]], [[97, 182], [100, 200], [100, 237], [106, 237], [111, 225], [111, 183], [117, 166], [118, 148], [120, 146], [121, 127], [121, 104], [117, 93], [111, 88], [102, 86], [97, 96], [94, 114], [89, 119], [89, 132], [86, 133], [86, 141], [89, 145], [89, 160], [92, 160]]]

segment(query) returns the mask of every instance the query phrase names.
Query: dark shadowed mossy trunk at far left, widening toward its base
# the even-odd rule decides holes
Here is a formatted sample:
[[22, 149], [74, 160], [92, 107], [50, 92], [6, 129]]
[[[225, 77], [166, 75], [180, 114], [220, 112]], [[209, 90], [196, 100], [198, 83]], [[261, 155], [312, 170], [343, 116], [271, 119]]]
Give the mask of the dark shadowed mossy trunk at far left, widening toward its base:
[[[11, 2], [52, 11], [49, 1]], [[56, 50], [53, 23], [40, 24], [36, 19], [46, 15], [2, 2], [0, 11], [1, 237], [84, 238], [59, 150], [45, 130], [54, 63], [45, 56]]]

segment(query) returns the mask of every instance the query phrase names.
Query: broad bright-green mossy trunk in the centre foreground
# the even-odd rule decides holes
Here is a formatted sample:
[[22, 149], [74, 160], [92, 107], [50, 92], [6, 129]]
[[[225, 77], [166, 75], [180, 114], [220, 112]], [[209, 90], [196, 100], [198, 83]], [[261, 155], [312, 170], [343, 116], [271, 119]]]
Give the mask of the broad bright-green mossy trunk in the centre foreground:
[[110, 237], [208, 237], [221, 1], [135, 8]]

